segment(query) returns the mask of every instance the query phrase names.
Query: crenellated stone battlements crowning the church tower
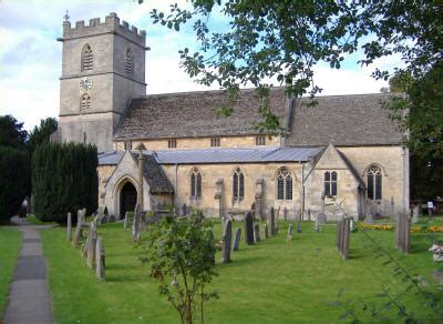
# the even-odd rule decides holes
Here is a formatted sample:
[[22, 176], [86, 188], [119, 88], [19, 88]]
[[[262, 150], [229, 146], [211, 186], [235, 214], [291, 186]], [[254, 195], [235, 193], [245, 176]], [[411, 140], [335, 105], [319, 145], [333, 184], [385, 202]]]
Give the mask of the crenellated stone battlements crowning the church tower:
[[106, 16], [104, 22], [100, 18], [90, 19], [89, 24], [85, 24], [84, 20], [76, 21], [74, 27], [71, 27], [70, 21], [63, 22], [63, 40], [91, 37], [100, 33], [120, 34], [142, 47], [145, 47], [146, 42], [146, 32], [144, 30], [138, 30], [135, 26], [130, 26], [126, 21], [120, 23], [120, 18], [115, 12]]

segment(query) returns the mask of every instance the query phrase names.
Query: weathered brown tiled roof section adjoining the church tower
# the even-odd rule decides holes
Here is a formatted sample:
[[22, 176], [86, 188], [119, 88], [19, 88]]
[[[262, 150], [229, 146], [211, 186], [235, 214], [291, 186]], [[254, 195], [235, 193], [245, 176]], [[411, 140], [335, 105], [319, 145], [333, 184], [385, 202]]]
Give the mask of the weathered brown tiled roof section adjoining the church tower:
[[[272, 88], [270, 105], [284, 123], [285, 89]], [[258, 134], [261, 121], [255, 89], [239, 91], [230, 117], [217, 117], [226, 105], [224, 91], [196, 91], [134, 98], [114, 134], [116, 140]]]

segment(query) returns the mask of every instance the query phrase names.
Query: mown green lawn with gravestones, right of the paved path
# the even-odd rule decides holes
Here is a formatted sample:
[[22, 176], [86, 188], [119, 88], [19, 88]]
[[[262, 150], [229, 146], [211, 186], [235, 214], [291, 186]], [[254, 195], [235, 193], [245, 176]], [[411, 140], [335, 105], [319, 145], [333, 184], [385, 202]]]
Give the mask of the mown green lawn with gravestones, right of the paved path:
[[[243, 223], [235, 222], [234, 231], [239, 226]], [[230, 264], [220, 264], [217, 254], [219, 275], [210, 290], [220, 297], [206, 305], [206, 323], [331, 323], [344, 313], [330, 305], [340, 290], [344, 290], [342, 298], [352, 301], [356, 310], [358, 301], [384, 304], [384, 300], [375, 297], [382, 285], [392, 292], [404, 291], [401, 277], [393, 275], [393, 267], [373, 257], [361, 232], [352, 233], [350, 260], [342, 261], [336, 249], [334, 223], [315, 232], [313, 223], [303, 222], [302, 233], [293, 233], [290, 242], [286, 241], [288, 223], [281, 222], [279, 226], [277, 236], [254, 246], [241, 241], [240, 251], [231, 254]], [[214, 231], [219, 237], [219, 223]], [[367, 233], [400, 257], [411, 273], [420, 273], [434, 285], [432, 271], [439, 265], [426, 251], [427, 234], [413, 234], [412, 253], [403, 256], [393, 249], [393, 231]], [[42, 231], [56, 323], [179, 322], [176, 312], [158, 295], [146, 265], [137, 260], [143, 250], [133, 246], [131, 230], [124, 230], [122, 223], [107, 224], [99, 227], [99, 235], [104, 239], [106, 250], [104, 282], [95, 279], [79, 250], [66, 241], [65, 230]], [[413, 291], [405, 303], [408, 310], [429, 318], [422, 300]], [[359, 316], [371, 321], [368, 314]]]

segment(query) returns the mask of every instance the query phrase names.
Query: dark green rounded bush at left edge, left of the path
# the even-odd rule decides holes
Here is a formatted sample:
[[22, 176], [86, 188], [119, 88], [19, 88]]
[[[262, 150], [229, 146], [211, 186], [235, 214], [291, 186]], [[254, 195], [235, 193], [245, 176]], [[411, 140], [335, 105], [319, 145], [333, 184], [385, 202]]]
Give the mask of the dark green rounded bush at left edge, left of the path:
[[28, 151], [0, 145], [0, 224], [20, 210], [31, 192], [31, 168]]

